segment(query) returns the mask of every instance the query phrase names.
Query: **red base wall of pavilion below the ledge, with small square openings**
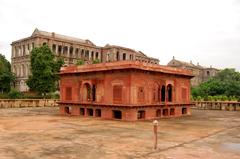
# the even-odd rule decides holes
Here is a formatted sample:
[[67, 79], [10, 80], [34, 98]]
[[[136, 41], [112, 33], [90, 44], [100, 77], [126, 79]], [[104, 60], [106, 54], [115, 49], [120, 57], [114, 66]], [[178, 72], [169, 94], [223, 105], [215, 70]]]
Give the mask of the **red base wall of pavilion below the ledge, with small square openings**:
[[[69, 107], [69, 113], [65, 111], [65, 107]], [[84, 108], [84, 115], [80, 114], [80, 108]], [[183, 108], [186, 109], [185, 114], [183, 114]], [[87, 109], [92, 109], [93, 114], [89, 115]], [[115, 119], [113, 115], [113, 111], [121, 111], [122, 117], [120, 120], [125, 121], [136, 121], [136, 120], [153, 120], [153, 119], [160, 119], [160, 118], [169, 118], [169, 117], [180, 117], [185, 115], [190, 115], [190, 107], [188, 106], [165, 106], [165, 107], [145, 107], [145, 108], [121, 108], [121, 107], [93, 107], [93, 106], [60, 106], [60, 114], [62, 115], [72, 115], [72, 116], [82, 116], [82, 117], [97, 117], [96, 116], [96, 109], [101, 110], [101, 119]], [[157, 116], [157, 110], [161, 111], [161, 114]], [[167, 110], [167, 113], [163, 113], [164, 110]], [[173, 110], [173, 111], [171, 111]], [[139, 113], [138, 111], [144, 111], [144, 117], [138, 118]], [[118, 119], [116, 119], [118, 120]]]

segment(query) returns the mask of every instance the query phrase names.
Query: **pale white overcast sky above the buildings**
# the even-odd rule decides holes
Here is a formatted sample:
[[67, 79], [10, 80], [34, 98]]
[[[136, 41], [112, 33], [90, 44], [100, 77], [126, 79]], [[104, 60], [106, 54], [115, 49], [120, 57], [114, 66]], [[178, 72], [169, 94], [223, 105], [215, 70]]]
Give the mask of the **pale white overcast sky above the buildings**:
[[240, 70], [240, 0], [0, 0], [0, 53], [35, 28]]

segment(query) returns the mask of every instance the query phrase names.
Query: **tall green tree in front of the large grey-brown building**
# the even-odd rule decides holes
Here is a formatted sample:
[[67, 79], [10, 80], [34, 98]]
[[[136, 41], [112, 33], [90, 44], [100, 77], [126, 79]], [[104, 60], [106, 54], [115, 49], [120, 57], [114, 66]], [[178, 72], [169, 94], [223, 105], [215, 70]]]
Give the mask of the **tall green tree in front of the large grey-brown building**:
[[55, 59], [47, 45], [34, 48], [31, 51], [31, 72], [27, 80], [30, 90], [36, 91], [46, 97], [49, 92], [57, 89], [58, 72], [63, 65], [63, 59]]

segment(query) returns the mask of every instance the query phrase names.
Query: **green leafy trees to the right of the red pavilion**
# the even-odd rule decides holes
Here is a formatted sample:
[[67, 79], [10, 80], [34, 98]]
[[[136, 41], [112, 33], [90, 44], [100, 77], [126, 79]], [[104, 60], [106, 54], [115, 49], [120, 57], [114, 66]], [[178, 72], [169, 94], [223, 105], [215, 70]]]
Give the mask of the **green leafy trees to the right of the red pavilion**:
[[236, 96], [240, 98], [240, 73], [235, 69], [224, 69], [215, 77], [192, 88], [193, 97]]

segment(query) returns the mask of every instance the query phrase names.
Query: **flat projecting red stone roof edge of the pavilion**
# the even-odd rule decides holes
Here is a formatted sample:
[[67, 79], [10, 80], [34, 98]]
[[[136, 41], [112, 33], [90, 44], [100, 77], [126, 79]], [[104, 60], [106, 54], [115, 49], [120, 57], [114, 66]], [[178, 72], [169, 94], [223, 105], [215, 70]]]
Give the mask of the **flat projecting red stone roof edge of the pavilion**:
[[60, 75], [126, 69], [137, 69], [149, 72], [158, 72], [193, 77], [192, 72], [186, 69], [174, 68], [151, 63], [143, 63], [139, 61], [116, 61], [89, 65], [71, 65], [67, 67], [62, 67]]

